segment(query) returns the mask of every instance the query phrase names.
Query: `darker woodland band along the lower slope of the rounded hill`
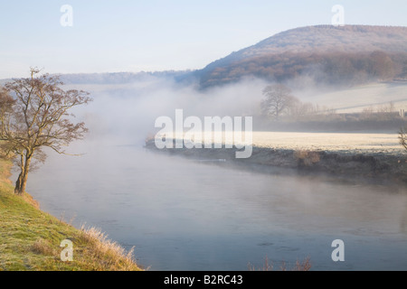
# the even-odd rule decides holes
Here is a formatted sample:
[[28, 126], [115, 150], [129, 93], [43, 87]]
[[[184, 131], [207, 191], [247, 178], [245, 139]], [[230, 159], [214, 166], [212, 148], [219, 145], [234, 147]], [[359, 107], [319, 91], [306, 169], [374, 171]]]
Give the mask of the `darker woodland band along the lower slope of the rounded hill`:
[[367, 81], [407, 79], [407, 52], [305, 52], [251, 58], [202, 71], [202, 87], [256, 77], [284, 82], [308, 76], [318, 83], [352, 86]]

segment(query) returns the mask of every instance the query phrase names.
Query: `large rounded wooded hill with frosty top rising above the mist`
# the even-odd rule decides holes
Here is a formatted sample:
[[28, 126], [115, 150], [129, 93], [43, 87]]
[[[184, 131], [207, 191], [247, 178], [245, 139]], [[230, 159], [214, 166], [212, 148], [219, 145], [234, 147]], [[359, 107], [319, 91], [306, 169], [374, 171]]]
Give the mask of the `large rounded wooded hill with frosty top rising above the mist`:
[[317, 25], [278, 33], [194, 71], [202, 88], [256, 77], [327, 84], [407, 78], [407, 27]]

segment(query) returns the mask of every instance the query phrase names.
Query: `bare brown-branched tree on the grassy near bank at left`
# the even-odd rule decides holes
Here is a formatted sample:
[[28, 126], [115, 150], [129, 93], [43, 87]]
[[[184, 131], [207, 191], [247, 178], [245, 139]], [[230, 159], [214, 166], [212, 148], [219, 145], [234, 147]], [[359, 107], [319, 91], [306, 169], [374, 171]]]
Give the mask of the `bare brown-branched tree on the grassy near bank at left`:
[[65, 91], [59, 77], [39, 73], [31, 69], [30, 78], [8, 82], [0, 94], [0, 140], [20, 169], [14, 189], [19, 195], [25, 191], [33, 159], [45, 161], [44, 147], [65, 154], [63, 148], [88, 130], [83, 122], [73, 124], [68, 111], [90, 102], [89, 93]]

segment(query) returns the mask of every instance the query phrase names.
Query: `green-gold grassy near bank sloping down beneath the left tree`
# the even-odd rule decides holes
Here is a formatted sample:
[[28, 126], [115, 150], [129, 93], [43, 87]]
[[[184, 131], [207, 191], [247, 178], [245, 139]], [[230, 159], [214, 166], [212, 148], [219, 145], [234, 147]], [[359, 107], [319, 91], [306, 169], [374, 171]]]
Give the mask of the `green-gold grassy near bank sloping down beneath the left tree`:
[[[0, 159], [0, 271], [140, 270], [132, 252], [96, 228], [74, 228], [39, 209], [25, 194], [15, 196], [8, 180], [12, 164]], [[62, 240], [73, 243], [71, 262], [62, 262]]]

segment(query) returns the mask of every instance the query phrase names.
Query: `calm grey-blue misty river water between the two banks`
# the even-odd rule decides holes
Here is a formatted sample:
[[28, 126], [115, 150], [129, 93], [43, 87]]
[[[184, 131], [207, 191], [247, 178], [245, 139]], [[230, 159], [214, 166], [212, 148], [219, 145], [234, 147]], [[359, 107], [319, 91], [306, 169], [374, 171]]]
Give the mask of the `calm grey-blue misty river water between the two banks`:
[[[80, 144], [81, 149], [85, 146]], [[406, 270], [407, 194], [380, 185], [261, 174], [137, 146], [50, 154], [29, 191], [56, 217], [101, 228], [151, 270], [247, 270], [311, 257], [314, 270]], [[345, 241], [345, 262], [331, 243]]]

